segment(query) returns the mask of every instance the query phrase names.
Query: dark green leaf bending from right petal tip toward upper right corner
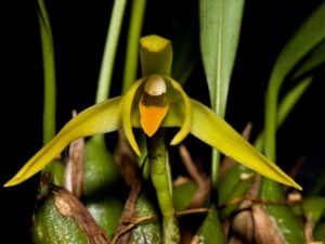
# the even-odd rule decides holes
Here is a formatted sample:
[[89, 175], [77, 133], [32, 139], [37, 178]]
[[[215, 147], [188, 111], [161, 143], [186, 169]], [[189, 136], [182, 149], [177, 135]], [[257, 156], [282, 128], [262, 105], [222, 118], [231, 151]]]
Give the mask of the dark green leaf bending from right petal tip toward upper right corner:
[[275, 159], [278, 92], [289, 72], [325, 38], [325, 3], [322, 3], [287, 42], [273, 67], [265, 97], [265, 154]]

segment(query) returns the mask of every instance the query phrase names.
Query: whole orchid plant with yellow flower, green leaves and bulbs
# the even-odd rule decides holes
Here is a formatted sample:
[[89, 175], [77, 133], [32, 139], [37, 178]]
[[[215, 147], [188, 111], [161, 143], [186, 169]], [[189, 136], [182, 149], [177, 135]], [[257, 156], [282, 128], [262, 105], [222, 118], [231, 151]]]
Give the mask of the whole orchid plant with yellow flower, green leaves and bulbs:
[[[39, 190], [42, 201], [37, 204], [34, 214], [32, 234], [36, 243], [60, 243], [63, 240], [67, 240], [68, 243], [143, 243], [144, 241], [165, 244], [184, 243], [179, 216], [188, 213], [206, 214], [198, 230], [192, 233], [192, 243], [232, 243], [235, 239], [227, 236], [229, 233], [223, 232], [221, 224], [230, 221], [230, 216], [235, 210], [239, 209], [239, 213], [247, 207], [251, 208], [251, 219], [255, 220], [255, 224], [260, 224], [261, 230], [249, 229], [253, 232], [253, 237], [247, 234], [249, 232], [247, 231], [244, 234], [246, 242], [297, 244], [310, 240], [311, 236], [303, 234], [301, 222], [297, 220], [295, 211], [284, 201], [281, 184], [299, 191], [302, 191], [302, 188], [276, 166], [275, 134], [276, 127], [282, 124], [311, 84], [312, 76], [306, 77], [302, 74], [310, 74], [309, 72], [323, 65], [325, 61], [324, 55], [320, 55], [324, 53], [325, 31], [324, 28], [318, 28], [320, 25], [325, 24], [325, 4], [321, 4], [300, 27], [276, 62], [265, 99], [265, 130], [258, 137], [255, 145], [224, 119], [244, 1], [199, 2], [202, 61], [211, 101], [209, 107], [190, 98], [182, 87], [182, 81], [172, 77], [172, 42], [158, 35], [141, 36], [144, 0], [134, 1], [132, 5], [122, 94], [107, 98], [120, 23], [126, 8], [125, 0], [116, 0], [103, 56], [96, 104], [74, 116], [56, 136], [53, 126], [55, 111], [53, 37], [44, 2], [38, 0], [38, 4], [44, 84], [49, 88], [46, 89], [48, 93], [46, 93], [44, 112], [48, 114], [44, 113], [44, 145], [4, 184], [4, 187], [13, 187], [39, 171], [42, 172]], [[313, 38], [306, 38], [307, 34], [312, 35]], [[136, 77], [135, 72], [138, 55], [140, 55], [141, 77]], [[303, 62], [299, 63], [302, 59]], [[282, 82], [297, 65], [298, 69], [295, 69], [292, 77], [289, 78], [299, 80], [299, 84], [277, 105]], [[197, 191], [194, 194], [193, 190], [188, 190], [193, 181], [186, 181], [186, 184], [182, 185], [185, 185], [182, 193], [172, 178], [172, 166], [168, 156], [170, 145], [166, 143], [165, 133], [174, 127], [179, 129], [170, 145], [179, 146], [188, 134], [192, 134], [213, 149], [211, 181], [207, 181], [210, 185], [208, 189], [211, 190], [198, 197], [200, 204], [196, 204], [195, 208], [187, 207], [192, 197], [199, 193], [200, 189], [195, 187]], [[134, 171], [135, 180], [129, 183], [130, 196], [122, 213], [114, 205], [112, 198], [107, 198], [106, 190], [103, 194], [107, 182], [109, 188], [118, 188], [116, 182], [107, 179], [118, 172], [115, 171], [116, 164], [113, 157], [107, 156], [110, 153], [107, 152], [103, 136], [114, 131], [119, 131], [120, 147], [129, 149], [127, 154], [131, 160], [141, 162], [135, 169], [134, 164], [128, 166]], [[79, 154], [86, 155], [84, 158], [73, 159], [73, 162], [81, 162], [81, 166], [72, 166], [69, 163], [69, 166], [64, 166], [63, 162], [58, 162], [58, 168], [55, 166], [57, 156], [67, 146], [73, 151], [74, 143], [88, 137], [90, 139], [86, 142], [86, 149], [81, 147], [78, 151]], [[227, 160], [240, 165], [229, 163], [230, 166], [226, 168], [223, 164], [224, 172], [221, 174], [221, 154]], [[117, 153], [117, 155], [121, 154]], [[84, 172], [79, 169], [74, 174], [69, 167], [83, 168]], [[110, 172], [106, 174], [106, 171]], [[62, 180], [62, 174], [65, 174], [65, 178], [70, 181], [72, 178], [80, 176], [81, 180], [69, 189], [67, 180]], [[50, 179], [47, 178], [48, 176]], [[125, 181], [128, 181], [128, 178], [129, 176], [125, 176]], [[146, 184], [150, 187], [147, 188]], [[154, 189], [154, 196], [148, 190], [151, 187]], [[238, 196], [240, 196], [239, 201], [237, 201]], [[82, 197], [86, 207], [81, 203]], [[312, 201], [303, 207], [311, 211], [310, 206], [314, 204], [318, 206], [323, 203], [324, 198]], [[263, 204], [265, 206], [262, 206]], [[180, 205], [184, 206], [180, 207]], [[103, 210], [104, 208], [110, 209], [109, 216], [105, 216], [108, 211]], [[324, 207], [323, 211], [325, 211]], [[115, 220], [110, 221], [110, 217]], [[237, 217], [242, 218], [239, 214]], [[53, 218], [55, 227], [50, 223]], [[67, 227], [68, 234], [65, 233]], [[264, 236], [262, 232], [265, 229], [269, 232]]]

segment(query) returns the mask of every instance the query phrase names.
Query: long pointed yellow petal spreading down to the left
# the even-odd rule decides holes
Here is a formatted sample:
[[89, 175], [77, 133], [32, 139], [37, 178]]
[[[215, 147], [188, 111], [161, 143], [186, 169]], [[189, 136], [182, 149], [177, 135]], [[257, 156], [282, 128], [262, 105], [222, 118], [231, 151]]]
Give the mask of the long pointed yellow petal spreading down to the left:
[[119, 129], [121, 127], [120, 102], [121, 98], [118, 97], [95, 104], [78, 114], [62, 128], [55, 138], [38, 151], [4, 187], [18, 184], [40, 171], [72, 141]]

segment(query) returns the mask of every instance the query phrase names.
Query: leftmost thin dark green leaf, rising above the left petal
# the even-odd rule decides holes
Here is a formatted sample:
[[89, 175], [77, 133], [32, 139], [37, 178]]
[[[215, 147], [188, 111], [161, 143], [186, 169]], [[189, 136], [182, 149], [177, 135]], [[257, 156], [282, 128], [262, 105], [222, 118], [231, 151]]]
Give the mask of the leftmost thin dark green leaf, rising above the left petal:
[[38, 7], [44, 74], [43, 143], [47, 143], [55, 134], [55, 61], [52, 30], [44, 2], [38, 0]]

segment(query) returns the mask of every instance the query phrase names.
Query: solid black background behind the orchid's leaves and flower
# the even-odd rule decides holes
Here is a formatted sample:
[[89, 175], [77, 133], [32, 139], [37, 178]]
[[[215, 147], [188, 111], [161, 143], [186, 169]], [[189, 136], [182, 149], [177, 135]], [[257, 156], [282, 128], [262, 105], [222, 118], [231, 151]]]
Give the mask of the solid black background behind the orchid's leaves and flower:
[[[4, 41], [1, 46], [1, 185], [40, 149], [42, 138], [43, 85], [37, 5], [36, 1], [10, 2], [1, 8], [1, 39]], [[56, 51], [60, 129], [69, 119], [72, 110], [80, 111], [94, 103], [112, 1], [47, 2]], [[264, 90], [272, 65], [287, 38], [320, 2], [247, 1], [226, 114], [226, 120], [238, 131], [247, 121], [252, 121], [253, 134], [262, 127]], [[129, 8], [126, 16], [128, 13]], [[196, 13], [197, 3], [193, 0], [148, 1], [143, 35], [158, 34], [173, 39], [184, 27], [192, 24], [197, 27]], [[127, 25], [128, 21], [123, 24], [117, 52], [112, 95], [120, 91]], [[198, 40], [194, 41], [197, 44]], [[297, 181], [307, 190], [324, 168], [324, 67], [316, 70], [315, 80], [277, 138], [277, 160], [286, 171], [299, 158], [304, 158]], [[208, 103], [204, 79], [198, 64], [185, 90]], [[207, 155], [193, 151], [195, 159], [207, 158]], [[37, 184], [38, 177], [32, 177], [17, 187], [0, 189], [0, 233], [2, 240], [8, 240], [3, 243], [31, 243], [29, 227]]]

